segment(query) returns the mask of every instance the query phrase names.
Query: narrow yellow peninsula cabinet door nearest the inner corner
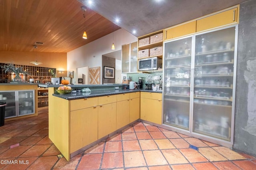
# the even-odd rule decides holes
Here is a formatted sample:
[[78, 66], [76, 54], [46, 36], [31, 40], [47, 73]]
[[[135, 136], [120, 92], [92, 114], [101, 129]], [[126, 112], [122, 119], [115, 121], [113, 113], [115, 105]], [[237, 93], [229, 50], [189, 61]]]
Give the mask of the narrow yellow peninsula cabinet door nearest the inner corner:
[[[132, 94], [132, 93], [131, 93]], [[130, 99], [130, 122], [140, 119], [140, 97]]]

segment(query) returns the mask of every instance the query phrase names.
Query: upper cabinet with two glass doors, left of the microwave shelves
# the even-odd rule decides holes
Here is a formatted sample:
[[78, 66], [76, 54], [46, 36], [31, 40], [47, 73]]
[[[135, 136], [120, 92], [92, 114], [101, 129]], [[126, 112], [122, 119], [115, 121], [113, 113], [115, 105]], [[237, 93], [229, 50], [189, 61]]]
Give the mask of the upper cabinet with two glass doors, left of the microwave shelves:
[[122, 73], [137, 72], [138, 43], [122, 45]]

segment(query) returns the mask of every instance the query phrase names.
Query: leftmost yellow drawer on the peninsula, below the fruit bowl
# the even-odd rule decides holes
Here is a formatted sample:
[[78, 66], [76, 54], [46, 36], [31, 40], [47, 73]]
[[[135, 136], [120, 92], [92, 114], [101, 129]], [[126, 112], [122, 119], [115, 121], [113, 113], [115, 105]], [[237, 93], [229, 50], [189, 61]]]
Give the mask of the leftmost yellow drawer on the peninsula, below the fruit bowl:
[[70, 100], [70, 111], [98, 106], [98, 98]]

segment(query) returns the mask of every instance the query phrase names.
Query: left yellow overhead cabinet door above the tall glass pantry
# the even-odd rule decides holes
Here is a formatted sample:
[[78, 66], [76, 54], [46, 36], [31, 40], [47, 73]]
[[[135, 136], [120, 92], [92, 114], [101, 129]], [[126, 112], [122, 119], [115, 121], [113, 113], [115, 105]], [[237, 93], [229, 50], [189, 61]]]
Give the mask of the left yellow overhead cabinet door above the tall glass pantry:
[[196, 32], [196, 21], [190, 21], [164, 30], [164, 40], [169, 40]]

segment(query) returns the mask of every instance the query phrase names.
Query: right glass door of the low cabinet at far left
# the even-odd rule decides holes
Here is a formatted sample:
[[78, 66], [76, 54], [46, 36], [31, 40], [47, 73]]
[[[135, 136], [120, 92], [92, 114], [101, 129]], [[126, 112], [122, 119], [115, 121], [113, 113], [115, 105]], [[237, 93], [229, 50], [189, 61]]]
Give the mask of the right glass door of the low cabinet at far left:
[[18, 115], [35, 113], [34, 101], [34, 90], [18, 91]]

